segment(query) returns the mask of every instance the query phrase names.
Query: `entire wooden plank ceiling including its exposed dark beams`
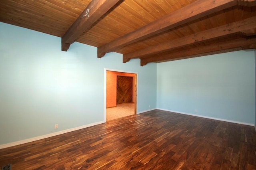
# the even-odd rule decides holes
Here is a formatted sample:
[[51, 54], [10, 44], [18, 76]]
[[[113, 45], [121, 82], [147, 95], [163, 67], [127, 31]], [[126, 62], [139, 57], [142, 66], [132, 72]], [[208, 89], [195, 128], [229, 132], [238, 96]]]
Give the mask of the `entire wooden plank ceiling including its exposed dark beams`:
[[[256, 48], [256, 0], [0, 0], [0, 21], [141, 65]], [[88, 13], [87, 16], [85, 16]]]

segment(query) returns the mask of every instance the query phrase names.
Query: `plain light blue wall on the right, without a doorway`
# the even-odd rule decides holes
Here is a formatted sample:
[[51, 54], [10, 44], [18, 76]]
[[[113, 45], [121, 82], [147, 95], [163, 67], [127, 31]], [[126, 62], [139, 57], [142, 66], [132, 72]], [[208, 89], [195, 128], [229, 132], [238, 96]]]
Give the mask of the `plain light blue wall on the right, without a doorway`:
[[254, 124], [254, 51], [158, 63], [156, 101], [159, 109]]

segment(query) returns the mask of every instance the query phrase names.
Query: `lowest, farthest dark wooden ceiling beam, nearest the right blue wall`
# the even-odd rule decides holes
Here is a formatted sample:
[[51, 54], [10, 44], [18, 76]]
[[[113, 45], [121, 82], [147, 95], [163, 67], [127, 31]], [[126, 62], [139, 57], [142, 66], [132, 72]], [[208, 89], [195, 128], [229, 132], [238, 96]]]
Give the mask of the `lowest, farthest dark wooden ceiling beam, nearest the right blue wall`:
[[236, 40], [231, 40], [227, 42], [220, 42], [220, 43], [213, 43], [209, 45], [205, 45], [202, 47], [194, 47], [194, 48], [189, 48], [186, 50], [183, 50], [182, 52], [177, 51], [177, 52], [170, 52], [166, 55], [161, 55], [158, 57], [151, 56], [147, 58], [142, 58], [140, 59], [140, 65], [146, 65], [147, 63], [150, 62], [158, 62], [158, 61], [174, 61], [178, 59], [184, 59], [185, 58], [191, 58], [194, 57], [194, 55], [198, 54], [203, 54], [203, 53], [210, 53], [214, 51], [220, 51], [220, 50], [225, 50], [225, 49], [232, 49], [232, 48], [238, 48], [238, 47], [243, 47], [243, 46], [248, 46], [248, 49], [254, 48], [251, 45], [256, 44], [256, 38], [239, 38]]

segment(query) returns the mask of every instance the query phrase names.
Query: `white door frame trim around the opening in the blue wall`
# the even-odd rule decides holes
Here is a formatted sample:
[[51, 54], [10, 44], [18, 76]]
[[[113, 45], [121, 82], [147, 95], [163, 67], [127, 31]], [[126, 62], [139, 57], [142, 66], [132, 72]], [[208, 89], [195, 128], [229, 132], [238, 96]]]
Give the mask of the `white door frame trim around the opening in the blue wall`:
[[104, 122], [106, 122], [106, 98], [107, 98], [107, 71], [116, 71], [116, 72], [121, 72], [121, 73], [132, 73], [135, 74], [134, 77], [134, 113], [138, 114], [138, 72], [133, 72], [133, 71], [125, 71], [125, 70], [118, 70], [118, 69], [109, 69], [109, 68], [104, 68]]

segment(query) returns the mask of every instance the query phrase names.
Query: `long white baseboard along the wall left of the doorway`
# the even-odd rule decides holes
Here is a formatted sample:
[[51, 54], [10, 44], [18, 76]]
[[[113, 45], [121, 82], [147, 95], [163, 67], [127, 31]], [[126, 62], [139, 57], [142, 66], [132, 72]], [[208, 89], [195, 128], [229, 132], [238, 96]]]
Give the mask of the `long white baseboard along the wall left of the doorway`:
[[34, 137], [34, 138], [19, 140], [19, 141], [7, 143], [7, 144], [1, 144], [0, 149], [8, 148], [8, 147], [11, 147], [11, 146], [16, 146], [16, 145], [24, 144], [24, 143], [28, 143], [28, 142], [33, 142], [33, 141], [44, 139], [44, 138], [49, 138], [49, 137], [56, 136], [56, 135], [59, 135], [59, 134], [64, 134], [64, 133], [67, 133], [67, 132], [80, 130], [82, 128], [92, 127], [94, 125], [99, 125], [99, 124], [102, 124], [102, 123], [106, 123], [106, 122], [105, 121], [100, 121], [100, 122], [91, 123], [91, 124], [88, 124], [88, 125], [83, 125], [83, 126], [80, 126], [80, 127], [70, 128], [70, 129], [61, 130], [61, 131], [50, 133], [50, 134], [45, 134], [45, 135], [42, 135], [42, 136], [37, 136], [37, 137]]

